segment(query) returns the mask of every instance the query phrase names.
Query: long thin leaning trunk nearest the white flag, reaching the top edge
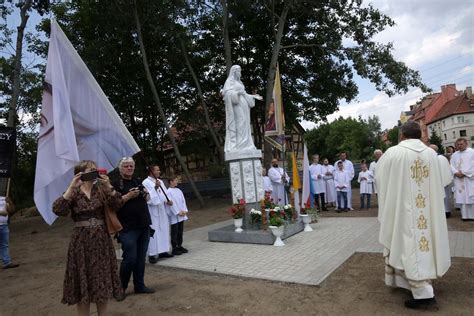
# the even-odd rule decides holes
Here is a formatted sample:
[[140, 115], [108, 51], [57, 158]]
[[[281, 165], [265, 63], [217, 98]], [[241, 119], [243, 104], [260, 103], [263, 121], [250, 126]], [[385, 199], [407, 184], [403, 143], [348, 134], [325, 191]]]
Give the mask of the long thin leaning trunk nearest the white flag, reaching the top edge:
[[138, 35], [138, 41], [140, 43], [140, 50], [142, 53], [142, 60], [143, 60], [143, 67], [145, 68], [145, 74], [146, 78], [148, 80], [148, 83], [150, 85], [151, 92], [153, 94], [153, 99], [156, 103], [156, 106], [158, 107], [158, 112], [160, 113], [161, 120], [163, 121], [163, 124], [165, 125], [166, 131], [168, 132], [168, 136], [170, 138], [171, 144], [173, 145], [174, 152], [176, 154], [176, 158], [178, 159], [181, 167], [183, 168], [183, 171], [188, 178], [188, 181], [191, 185], [191, 188], [193, 189], [194, 195], [196, 195], [197, 199], [199, 200], [199, 204], [201, 207], [204, 206], [204, 200], [199, 193], [196, 184], [194, 183], [193, 179], [191, 178], [191, 175], [189, 174], [189, 170], [184, 163], [183, 157], [181, 156], [181, 153], [179, 152], [178, 144], [176, 143], [176, 140], [173, 136], [173, 133], [171, 132], [171, 128], [168, 124], [168, 121], [166, 120], [165, 112], [163, 111], [163, 107], [160, 102], [160, 98], [158, 96], [158, 92], [156, 91], [155, 83], [153, 82], [153, 77], [150, 72], [150, 67], [148, 64], [148, 59], [146, 57], [146, 51], [145, 51], [145, 45], [143, 43], [143, 36], [142, 36], [142, 31], [141, 31], [141, 25], [140, 25], [140, 19], [138, 18], [138, 11], [137, 11], [137, 3], [134, 1], [134, 14], [135, 14], [135, 22], [136, 22], [136, 27], [137, 27], [137, 35]]

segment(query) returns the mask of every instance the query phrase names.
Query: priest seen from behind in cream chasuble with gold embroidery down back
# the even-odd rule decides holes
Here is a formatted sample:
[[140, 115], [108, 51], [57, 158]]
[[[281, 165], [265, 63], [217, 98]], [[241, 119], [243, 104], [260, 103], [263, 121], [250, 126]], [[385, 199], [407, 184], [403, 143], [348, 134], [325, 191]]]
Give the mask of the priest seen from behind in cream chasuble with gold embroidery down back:
[[438, 158], [420, 138], [420, 125], [405, 123], [400, 143], [380, 158], [375, 175], [385, 283], [411, 291], [408, 308], [434, 305], [431, 280], [451, 266], [443, 204], [450, 179], [441, 175]]

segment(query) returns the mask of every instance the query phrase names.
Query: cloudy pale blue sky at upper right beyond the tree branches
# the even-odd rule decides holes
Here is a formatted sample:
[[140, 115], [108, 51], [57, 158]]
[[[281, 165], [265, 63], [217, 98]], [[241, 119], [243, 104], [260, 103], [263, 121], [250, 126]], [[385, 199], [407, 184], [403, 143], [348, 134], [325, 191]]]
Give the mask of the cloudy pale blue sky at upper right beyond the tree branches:
[[[374, 7], [390, 16], [394, 27], [378, 34], [382, 43], [393, 42], [397, 60], [418, 70], [433, 91], [455, 83], [458, 90], [474, 86], [474, 1], [472, 0], [374, 0]], [[366, 2], [367, 3], [367, 2]], [[419, 89], [392, 98], [375, 90], [367, 80], [358, 78], [358, 101], [341, 104], [328, 117], [367, 118], [377, 115], [382, 128], [397, 124], [401, 111], [423, 96]], [[315, 125], [303, 122], [305, 128]]]

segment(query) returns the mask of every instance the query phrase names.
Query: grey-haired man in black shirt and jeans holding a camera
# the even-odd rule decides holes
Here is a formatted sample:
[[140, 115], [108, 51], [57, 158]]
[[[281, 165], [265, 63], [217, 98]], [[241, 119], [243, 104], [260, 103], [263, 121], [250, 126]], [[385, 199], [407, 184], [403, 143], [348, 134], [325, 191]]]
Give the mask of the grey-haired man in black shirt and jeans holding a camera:
[[150, 196], [141, 181], [133, 176], [133, 158], [122, 158], [118, 168], [120, 179], [113, 182], [113, 186], [122, 194], [123, 202], [117, 211], [117, 217], [123, 226], [118, 238], [123, 251], [120, 280], [125, 291], [133, 274], [135, 293], [151, 294], [155, 291], [146, 287], [144, 281], [145, 259], [150, 241], [151, 218], [147, 205]]

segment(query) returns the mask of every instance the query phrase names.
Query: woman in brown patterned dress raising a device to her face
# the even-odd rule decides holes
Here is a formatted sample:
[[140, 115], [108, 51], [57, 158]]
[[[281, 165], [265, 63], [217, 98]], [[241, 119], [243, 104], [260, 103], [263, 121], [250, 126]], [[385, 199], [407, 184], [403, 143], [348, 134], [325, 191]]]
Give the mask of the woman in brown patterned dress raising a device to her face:
[[105, 225], [105, 206], [122, 204], [105, 175], [98, 175], [95, 162], [83, 160], [74, 167], [74, 178], [53, 204], [56, 215], [71, 217], [75, 227], [67, 255], [62, 303], [77, 304], [79, 315], [89, 315], [91, 303], [99, 315], [107, 312], [111, 297], [123, 298], [112, 239]]

